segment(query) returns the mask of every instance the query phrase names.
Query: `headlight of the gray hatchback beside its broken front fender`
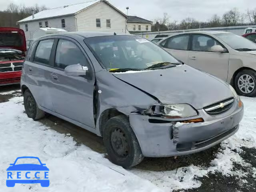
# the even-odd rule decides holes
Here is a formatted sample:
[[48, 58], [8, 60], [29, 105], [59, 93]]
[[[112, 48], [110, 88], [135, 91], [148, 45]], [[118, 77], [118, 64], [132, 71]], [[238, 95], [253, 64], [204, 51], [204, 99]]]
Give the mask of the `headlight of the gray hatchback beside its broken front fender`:
[[166, 116], [166, 118], [185, 118], [198, 115], [189, 104], [164, 104], [151, 106], [144, 112], [152, 116]]

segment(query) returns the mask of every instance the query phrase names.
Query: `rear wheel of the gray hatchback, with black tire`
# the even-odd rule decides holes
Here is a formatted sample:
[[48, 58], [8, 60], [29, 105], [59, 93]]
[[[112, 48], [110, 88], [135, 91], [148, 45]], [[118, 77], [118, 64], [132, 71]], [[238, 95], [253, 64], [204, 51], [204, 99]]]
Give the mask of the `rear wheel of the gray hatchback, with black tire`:
[[24, 108], [29, 118], [38, 120], [44, 117], [45, 112], [40, 110], [36, 104], [36, 100], [29, 90], [24, 92]]

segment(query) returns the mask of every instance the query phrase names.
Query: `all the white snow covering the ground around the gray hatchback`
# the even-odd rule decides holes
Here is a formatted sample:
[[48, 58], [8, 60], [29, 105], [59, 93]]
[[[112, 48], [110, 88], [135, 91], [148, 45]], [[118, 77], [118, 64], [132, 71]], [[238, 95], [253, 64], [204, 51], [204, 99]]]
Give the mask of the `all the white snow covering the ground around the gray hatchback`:
[[[6, 93], [3, 93], [6, 94]], [[110, 163], [104, 154], [77, 145], [69, 134], [60, 134], [24, 114], [22, 97], [14, 97], [0, 103], [0, 191], [173, 191], [198, 188], [197, 179], [209, 173], [221, 172], [225, 176], [243, 177], [246, 184], [248, 173], [234, 170], [233, 162], [242, 166], [244, 162], [238, 152], [241, 147], [255, 147], [256, 142], [256, 98], [241, 97], [244, 102], [244, 118], [240, 130], [221, 144], [221, 149], [210, 167], [181, 167], [171, 171], [124, 170]], [[7, 188], [6, 168], [18, 156], [38, 156], [50, 169], [50, 187], [40, 184], [16, 184]], [[203, 157], [202, 157], [203, 159]], [[114, 169], [114, 170], [112, 170]], [[254, 176], [256, 169], [251, 168]], [[116, 170], [116, 171], [115, 171]], [[120, 172], [120, 173], [119, 173]], [[123, 175], [124, 174], [124, 175]], [[159, 188], [158, 188], [159, 187]]]

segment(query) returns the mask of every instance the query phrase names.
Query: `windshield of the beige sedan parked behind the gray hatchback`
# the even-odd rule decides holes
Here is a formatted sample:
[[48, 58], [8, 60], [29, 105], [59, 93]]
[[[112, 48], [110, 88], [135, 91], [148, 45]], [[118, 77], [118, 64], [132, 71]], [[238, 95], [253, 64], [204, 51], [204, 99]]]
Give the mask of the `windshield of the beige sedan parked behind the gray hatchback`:
[[232, 47], [233, 49], [256, 50], [256, 44], [242, 36], [238, 36], [230, 33], [216, 34], [216, 36], [220, 38], [222, 41], [224, 41], [226, 44], [228, 44], [230, 47]]

